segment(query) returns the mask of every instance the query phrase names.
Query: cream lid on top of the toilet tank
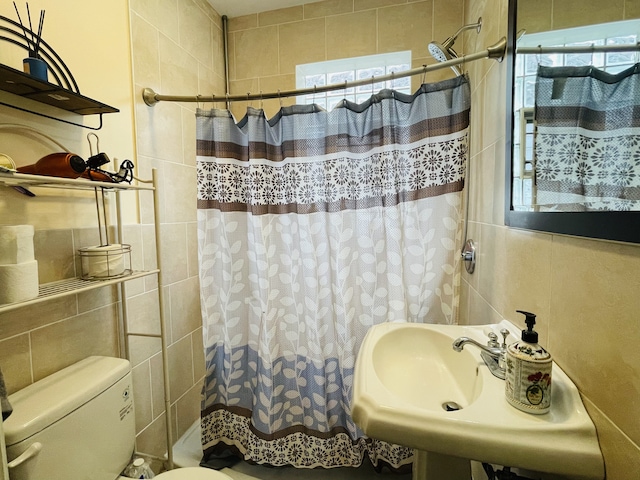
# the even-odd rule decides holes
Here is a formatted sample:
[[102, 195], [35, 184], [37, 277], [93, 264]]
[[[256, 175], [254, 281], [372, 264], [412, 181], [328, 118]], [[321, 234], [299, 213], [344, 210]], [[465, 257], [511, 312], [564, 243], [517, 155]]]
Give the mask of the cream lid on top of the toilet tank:
[[88, 357], [9, 395], [13, 413], [3, 423], [7, 446], [73, 412], [130, 371], [128, 360]]

